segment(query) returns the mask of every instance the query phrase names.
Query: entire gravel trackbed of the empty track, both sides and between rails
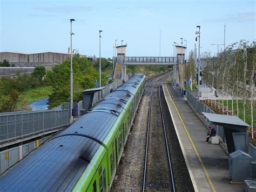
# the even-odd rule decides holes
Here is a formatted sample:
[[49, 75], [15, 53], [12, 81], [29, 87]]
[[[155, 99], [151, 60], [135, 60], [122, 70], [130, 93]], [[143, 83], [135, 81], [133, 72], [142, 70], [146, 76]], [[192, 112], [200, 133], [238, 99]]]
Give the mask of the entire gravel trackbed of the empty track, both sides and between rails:
[[[142, 102], [139, 105], [134, 125], [130, 136], [124, 149], [124, 157], [119, 163], [117, 180], [113, 182], [111, 191], [129, 191], [142, 190], [144, 161], [145, 161], [145, 144], [146, 144], [146, 130], [147, 117], [149, 111], [150, 92], [153, 83], [145, 88]], [[155, 88], [154, 92], [158, 92]], [[188, 174], [185, 160], [178, 144], [170, 113], [166, 105], [166, 101], [161, 91], [162, 105], [164, 108], [164, 116], [167, 134], [170, 141], [170, 152], [172, 155], [172, 166], [174, 172], [174, 182], [176, 183], [177, 191], [193, 191], [192, 182]], [[166, 148], [164, 143], [164, 131], [161, 123], [159, 100], [156, 94], [153, 94], [152, 108], [151, 108], [151, 131], [150, 140], [157, 145], [149, 147], [149, 155], [147, 165], [147, 190], [165, 190], [171, 191], [171, 179], [169, 166], [167, 162]], [[164, 103], [164, 104], [163, 104]], [[169, 116], [168, 116], [169, 115]], [[150, 141], [150, 142], [151, 142]], [[159, 146], [161, 145], [161, 147]], [[174, 155], [173, 155], [174, 154]], [[182, 171], [181, 171], [182, 170]], [[192, 188], [191, 188], [192, 187]]]

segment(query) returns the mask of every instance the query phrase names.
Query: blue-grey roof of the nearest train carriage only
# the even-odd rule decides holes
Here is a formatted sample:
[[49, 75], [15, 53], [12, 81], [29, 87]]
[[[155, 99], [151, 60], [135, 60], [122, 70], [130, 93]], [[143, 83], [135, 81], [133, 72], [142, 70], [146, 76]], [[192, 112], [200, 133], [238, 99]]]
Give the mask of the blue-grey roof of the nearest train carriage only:
[[98, 147], [83, 137], [52, 139], [0, 179], [1, 191], [71, 191]]

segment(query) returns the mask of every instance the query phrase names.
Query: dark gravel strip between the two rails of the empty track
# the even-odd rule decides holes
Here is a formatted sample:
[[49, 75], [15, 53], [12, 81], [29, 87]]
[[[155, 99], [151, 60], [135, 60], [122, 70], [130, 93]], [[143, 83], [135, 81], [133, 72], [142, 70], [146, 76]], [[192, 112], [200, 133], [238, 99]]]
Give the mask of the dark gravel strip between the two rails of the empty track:
[[171, 173], [166, 153], [164, 127], [158, 97], [158, 82], [153, 89], [151, 102], [151, 119], [149, 134], [149, 151], [147, 153], [146, 190], [172, 189]]

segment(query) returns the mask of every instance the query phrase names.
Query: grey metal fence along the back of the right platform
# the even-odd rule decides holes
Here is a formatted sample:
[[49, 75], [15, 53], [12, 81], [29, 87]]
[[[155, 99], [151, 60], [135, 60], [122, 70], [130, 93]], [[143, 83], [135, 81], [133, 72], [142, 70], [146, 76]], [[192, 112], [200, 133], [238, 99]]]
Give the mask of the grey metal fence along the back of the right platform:
[[[186, 91], [186, 98], [187, 98], [187, 101], [190, 102], [191, 105], [194, 107], [194, 109], [196, 109], [196, 111], [199, 113], [199, 115], [204, 117], [202, 112], [214, 113], [214, 111], [211, 110], [210, 108], [208, 108], [207, 105], [198, 101], [198, 98], [196, 96], [194, 96], [190, 91]], [[204, 118], [207, 121], [208, 125], [210, 125], [211, 124], [210, 120], [207, 119], [206, 117], [204, 117]], [[220, 136], [220, 138], [224, 141], [225, 134], [224, 134], [223, 127], [219, 126], [219, 125], [214, 125], [214, 127], [217, 131], [218, 136]]]

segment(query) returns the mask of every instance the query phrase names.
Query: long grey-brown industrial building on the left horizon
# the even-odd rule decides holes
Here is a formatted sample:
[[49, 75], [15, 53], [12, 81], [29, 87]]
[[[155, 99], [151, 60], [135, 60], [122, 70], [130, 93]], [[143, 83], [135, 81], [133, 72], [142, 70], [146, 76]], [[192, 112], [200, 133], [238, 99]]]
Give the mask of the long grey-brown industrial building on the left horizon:
[[[70, 48], [69, 48], [70, 52]], [[86, 55], [80, 55], [86, 57]], [[63, 63], [66, 59], [70, 58], [70, 53], [14, 53], [14, 52], [0, 52], [0, 62], [8, 60], [15, 67], [36, 67], [45, 66], [47, 69], [51, 69], [52, 66], [59, 63]]]

